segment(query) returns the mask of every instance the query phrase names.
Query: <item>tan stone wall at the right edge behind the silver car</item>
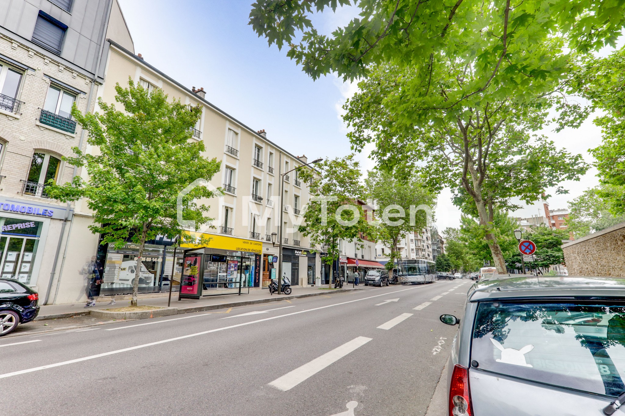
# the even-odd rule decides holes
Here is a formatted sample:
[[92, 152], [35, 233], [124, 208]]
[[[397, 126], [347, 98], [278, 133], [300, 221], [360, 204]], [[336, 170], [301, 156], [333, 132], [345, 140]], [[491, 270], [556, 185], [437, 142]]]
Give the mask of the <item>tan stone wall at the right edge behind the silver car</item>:
[[625, 223], [562, 246], [569, 276], [625, 278]]

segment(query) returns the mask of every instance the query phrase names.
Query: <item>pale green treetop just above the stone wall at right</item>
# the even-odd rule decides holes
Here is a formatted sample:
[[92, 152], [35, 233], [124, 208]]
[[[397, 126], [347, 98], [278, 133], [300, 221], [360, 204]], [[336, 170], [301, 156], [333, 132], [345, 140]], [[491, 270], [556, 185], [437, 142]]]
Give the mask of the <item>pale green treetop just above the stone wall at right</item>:
[[567, 230], [575, 238], [603, 230], [625, 221], [625, 213], [613, 215], [610, 211], [610, 202], [599, 196], [606, 191], [609, 185], [589, 188], [582, 195], [569, 201], [569, 218], [566, 220]]

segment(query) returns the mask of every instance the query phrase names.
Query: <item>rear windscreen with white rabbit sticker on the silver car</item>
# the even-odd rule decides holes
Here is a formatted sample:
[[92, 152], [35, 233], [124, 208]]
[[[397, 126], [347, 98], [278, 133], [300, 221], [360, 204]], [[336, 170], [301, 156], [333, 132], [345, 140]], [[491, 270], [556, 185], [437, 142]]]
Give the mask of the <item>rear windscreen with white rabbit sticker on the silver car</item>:
[[625, 392], [625, 304], [480, 302], [479, 369], [617, 396]]

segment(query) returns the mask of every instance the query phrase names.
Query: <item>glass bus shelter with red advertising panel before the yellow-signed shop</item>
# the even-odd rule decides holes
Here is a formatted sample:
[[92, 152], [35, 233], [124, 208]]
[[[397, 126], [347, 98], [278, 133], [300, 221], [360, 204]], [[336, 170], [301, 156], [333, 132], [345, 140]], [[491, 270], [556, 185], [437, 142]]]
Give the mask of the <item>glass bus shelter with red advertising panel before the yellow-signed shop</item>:
[[178, 300], [249, 293], [254, 284], [255, 254], [208, 247], [184, 250]]

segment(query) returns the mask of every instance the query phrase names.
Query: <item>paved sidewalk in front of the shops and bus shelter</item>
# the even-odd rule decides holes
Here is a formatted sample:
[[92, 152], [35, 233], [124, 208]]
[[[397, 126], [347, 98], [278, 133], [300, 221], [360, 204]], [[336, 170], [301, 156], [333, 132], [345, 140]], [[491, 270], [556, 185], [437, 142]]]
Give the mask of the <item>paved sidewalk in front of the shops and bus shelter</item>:
[[[269, 294], [268, 289], [250, 289], [249, 294], [241, 294], [240, 296], [237, 294], [222, 294], [216, 296], [204, 296], [199, 299], [182, 299], [178, 301], [178, 293], [171, 294], [171, 307], [176, 307], [179, 309], [179, 313], [186, 312], [196, 312], [209, 309], [217, 309], [217, 307], [234, 307], [241, 306], [247, 304], [255, 304], [255, 303], [265, 303], [265, 302], [276, 302], [284, 299], [294, 299], [296, 297], [307, 297], [307, 296], [322, 296], [329, 295], [337, 292], [345, 292], [352, 290], [362, 290], [366, 289], [365, 286], [356, 286], [352, 288], [352, 285], [345, 284], [343, 289], [332, 289], [328, 290], [327, 286], [322, 286], [326, 289], [319, 288], [317, 286], [312, 287], [295, 287], [292, 288], [293, 291], [290, 295], [286, 296], [284, 294]], [[39, 311], [39, 316], [37, 316], [37, 321], [41, 321], [42, 319], [53, 319], [53, 318], [61, 318], [61, 317], [70, 317], [76, 315], [87, 315], [89, 311], [94, 309], [108, 309], [112, 307], [123, 307], [129, 306], [130, 301], [116, 301], [114, 306], [110, 306], [107, 301], [96, 302], [96, 306], [93, 307], [84, 307], [84, 303], [68, 303], [68, 304], [58, 304], [58, 305], [46, 305], [41, 307], [41, 311]], [[167, 306], [168, 296], [163, 297], [149, 297], [141, 299], [139, 298], [139, 305], [150, 305], [150, 306]]]

